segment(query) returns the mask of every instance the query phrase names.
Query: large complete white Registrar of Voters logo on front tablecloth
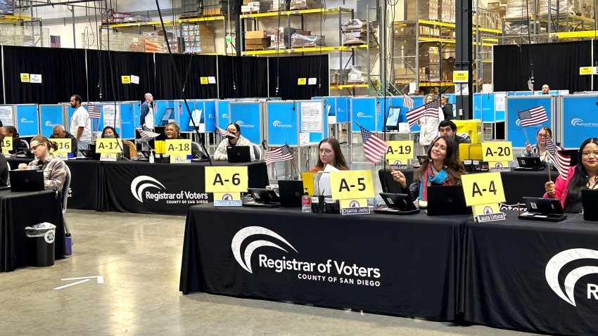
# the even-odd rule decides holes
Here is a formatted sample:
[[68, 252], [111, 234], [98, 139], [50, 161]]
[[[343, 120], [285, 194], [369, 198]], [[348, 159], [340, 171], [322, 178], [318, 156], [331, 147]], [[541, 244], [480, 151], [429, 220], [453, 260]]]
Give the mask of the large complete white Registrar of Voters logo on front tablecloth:
[[[262, 226], [241, 228], [231, 240], [234, 259], [252, 275], [257, 269], [264, 269], [274, 273], [292, 273], [292, 277], [297, 280], [335, 285], [381, 286], [382, 272], [378, 267], [352, 264], [350, 261], [325, 256], [320, 261], [305, 261], [300, 258], [300, 252], [295, 246], [279, 233]], [[279, 257], [280, 253], [277, 253], [272, 257], [272, 252], [276, 250], [284, 252], [284, 255]], [[252, 263], [254, 253], [257, 254], [257, 259]]]

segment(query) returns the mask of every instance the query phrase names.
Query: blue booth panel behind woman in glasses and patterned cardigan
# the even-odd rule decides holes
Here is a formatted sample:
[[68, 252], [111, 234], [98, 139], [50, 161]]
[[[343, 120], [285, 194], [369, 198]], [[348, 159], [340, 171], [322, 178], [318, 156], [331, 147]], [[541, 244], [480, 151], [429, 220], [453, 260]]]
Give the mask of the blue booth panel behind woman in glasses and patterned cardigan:
[[231, 122], [236, 122], [241, 127], [241, 135], [251, 143], [262, 143], [262, 109], [259, 101], [231, 102], [228, 124]]

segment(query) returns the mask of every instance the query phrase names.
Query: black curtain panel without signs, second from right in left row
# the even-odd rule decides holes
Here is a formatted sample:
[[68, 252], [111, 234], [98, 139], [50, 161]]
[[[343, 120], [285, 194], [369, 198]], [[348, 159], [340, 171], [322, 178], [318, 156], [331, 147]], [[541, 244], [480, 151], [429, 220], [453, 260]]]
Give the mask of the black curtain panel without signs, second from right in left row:
[[[268, 59], [217, 56], [221, 99], [268, 96]], [[274, 91], [270, 91], [273, 95]]]

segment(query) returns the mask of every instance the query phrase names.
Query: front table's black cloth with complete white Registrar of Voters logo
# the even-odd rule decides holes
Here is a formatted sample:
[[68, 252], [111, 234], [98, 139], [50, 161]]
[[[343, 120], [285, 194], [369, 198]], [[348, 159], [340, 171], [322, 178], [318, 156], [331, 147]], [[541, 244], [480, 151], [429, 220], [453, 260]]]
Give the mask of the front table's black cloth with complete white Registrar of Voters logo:
[[450, 321], [467, 219], [196, 205], [179, 289]]

